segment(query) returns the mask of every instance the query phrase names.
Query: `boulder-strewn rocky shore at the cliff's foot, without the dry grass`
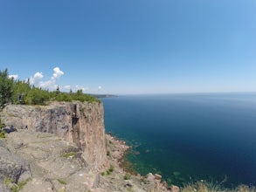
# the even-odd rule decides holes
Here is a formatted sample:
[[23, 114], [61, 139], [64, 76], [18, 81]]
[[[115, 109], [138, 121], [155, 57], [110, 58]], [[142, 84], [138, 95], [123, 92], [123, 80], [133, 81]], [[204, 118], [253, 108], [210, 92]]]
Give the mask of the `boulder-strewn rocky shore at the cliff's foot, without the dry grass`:
[[[130, 149], [125, 141], [115, 138], [112, 134], [106, 134], [106, 146], [109, 166], [114, 167], [111, 175], [101, 174], [100, 176], [101, 187], [106, 191], [179, 191], [178, 187], [168, 186], [167, 182], [163, 182], [161, 175], [149, 173], [142, 176], [129, 170], [123, 163], [123, 157]], [[113, 183], [114, 185], [106, 186], [106, 183]]]

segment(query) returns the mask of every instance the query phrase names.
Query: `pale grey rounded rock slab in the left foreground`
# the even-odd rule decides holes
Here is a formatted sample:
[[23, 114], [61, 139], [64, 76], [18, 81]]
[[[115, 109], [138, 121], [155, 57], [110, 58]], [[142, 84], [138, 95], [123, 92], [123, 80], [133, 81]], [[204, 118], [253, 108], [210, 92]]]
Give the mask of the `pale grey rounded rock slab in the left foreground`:
[[[54, 134], [32, 130], [17, 130], [6, 136], [3, 143], [5, 153], [0, 150], [0, 175], [3, 175], [5, 188], [17, 186], [23, 192], [86, 192], [97, 188], [100, 175], [86, 166], [79, 147], [74, 143]], [[2, 160], [2, 155], [7, 161]], [[8, 164], [2, 164], [2, 161]], [[26, 171], [30, 175], [25, 175]], [[6, 182], [8, 180], [10, 183]], [[24, 181], [21, 187], [19, 183]]]

